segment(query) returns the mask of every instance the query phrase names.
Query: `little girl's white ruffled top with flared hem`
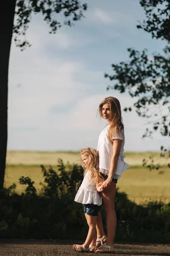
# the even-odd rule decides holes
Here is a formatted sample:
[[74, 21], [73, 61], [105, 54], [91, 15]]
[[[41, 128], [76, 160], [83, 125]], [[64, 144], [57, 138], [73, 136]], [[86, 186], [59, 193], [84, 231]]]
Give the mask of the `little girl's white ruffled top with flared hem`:
[[85, 177], [74, 199], [81, 204], [102, 204], [102, 198], [96, 189], [95, 184], [90, 184], [90, 171], [85, 173]]

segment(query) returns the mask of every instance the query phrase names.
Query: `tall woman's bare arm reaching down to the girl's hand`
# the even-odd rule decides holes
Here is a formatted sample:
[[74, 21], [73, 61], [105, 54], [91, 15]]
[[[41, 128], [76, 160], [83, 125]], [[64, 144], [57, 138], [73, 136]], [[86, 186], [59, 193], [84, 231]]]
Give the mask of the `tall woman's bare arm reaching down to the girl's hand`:
[[102, 188], [106, 188], [112, 182], [113, 175], [116, 172], [117, 162], [118, 162], [118, 159], [119, 159], [121, 146], [122, 146], [122, 140], [119, 140], [119, 139], [114, 139], [113, 140], [113, 155], [112, 155], [112, 158], [111, 158], [111, 166], [110, 166], [110, 170], [109, 170], [107, 180], [105, 180], [102, 183]]

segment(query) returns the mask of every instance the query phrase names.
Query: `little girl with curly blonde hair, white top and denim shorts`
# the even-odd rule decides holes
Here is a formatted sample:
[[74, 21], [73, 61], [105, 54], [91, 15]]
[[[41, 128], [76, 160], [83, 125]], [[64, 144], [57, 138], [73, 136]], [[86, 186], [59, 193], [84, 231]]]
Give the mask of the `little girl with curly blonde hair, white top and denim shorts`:
[[[102, 204], [102, 198], [99, 192], [102, 192], [101, 184], [104, 178], [99, 172], [99, 152], [93, 148], [85, 148], [80, 151], [84, 179], [76, 194], [74, 201], [83, 204], [85, 218], [89, 230], [85, 243], [82, 245], [74, 244], [73, 249], [77, 252], [88, 252], [96, 248], [96, 222], [99, 209]], [[104, 231], [103, 231], [104, 233]]]

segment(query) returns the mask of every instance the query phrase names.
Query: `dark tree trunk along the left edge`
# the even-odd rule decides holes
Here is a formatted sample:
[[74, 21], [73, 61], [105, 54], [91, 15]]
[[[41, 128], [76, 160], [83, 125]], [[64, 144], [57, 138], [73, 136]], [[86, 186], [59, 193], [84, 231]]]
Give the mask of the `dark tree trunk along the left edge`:
[[6, 167], [8, 64], [15, 4], [16, 0], [3, 0], [0, 3], [0, 189], [3, 188]]

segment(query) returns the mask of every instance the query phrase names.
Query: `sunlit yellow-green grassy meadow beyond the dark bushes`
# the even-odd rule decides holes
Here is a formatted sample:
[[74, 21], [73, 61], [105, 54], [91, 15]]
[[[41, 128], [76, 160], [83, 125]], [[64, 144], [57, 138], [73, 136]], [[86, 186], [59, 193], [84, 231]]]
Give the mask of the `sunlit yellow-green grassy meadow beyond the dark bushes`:
[[[164, 167], [165, 159], [160, 159], [159, 152], [125, 152], [125, 162], [130, 165], [117, 186], [120, 191], [127, 193], [130, 200], [143, 203], [150, 200], [170, 202], [170, 168]], [[159, 170], [152, 170], [142, 166], [142, 160], [153, 155], [154, 163], [161, 164]], [[40, 152], [40, 151], [8, 151], [6, 159], [5, 186], [15, 183], [17, 192], [23, 192], [24, 186], [19, 184], [21, 176], [29, 176], [35, 182], [35, 187], [40, 191], [40, 182], [43, 176], [40, 164], [48, 167], [57, 166], [61, 158], [65, 164], [79, 163], [78, 152]]]

